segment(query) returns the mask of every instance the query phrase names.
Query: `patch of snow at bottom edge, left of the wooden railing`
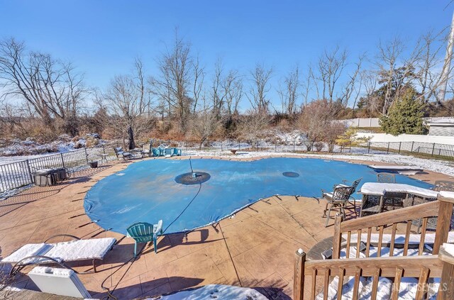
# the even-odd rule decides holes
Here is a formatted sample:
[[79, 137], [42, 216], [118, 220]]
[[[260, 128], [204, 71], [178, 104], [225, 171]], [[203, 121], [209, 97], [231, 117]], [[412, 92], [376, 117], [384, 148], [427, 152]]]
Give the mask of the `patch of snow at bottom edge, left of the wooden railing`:
[[213, 299], [238, 299], [238, 300], [267, 300], [267, 297], [255, 289], [247, 287], [234, 287], [224, 284], [209, 284], [196, 289], [178, 291], [174, 294], [156, 296], [145, 300], [213, 300]]

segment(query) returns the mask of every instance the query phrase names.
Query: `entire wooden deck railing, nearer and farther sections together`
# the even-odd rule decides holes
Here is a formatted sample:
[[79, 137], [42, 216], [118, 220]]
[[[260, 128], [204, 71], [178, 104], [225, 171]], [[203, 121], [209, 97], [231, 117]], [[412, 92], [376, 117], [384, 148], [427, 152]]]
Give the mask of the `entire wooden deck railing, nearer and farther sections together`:
[[[450, 230], [450, 219], [453, 212], [454, 199], [441, 198], [438, 201], [428, 202], [417, 206], [411, 206], [396, 211], [379, 213], [373, 216], [356, 218], [350, 221], [341, 222], [336, 217], [333, 237], [333, 259], [332, 260], [309, 260], [302, 250], [296, 253], [294, 267], [294, 299], [315, 299], [319, 292], [323, 292], [323, 299], [327, 299], [328, 286], [333, 277], [338, 277], [338, 291], [342, 291], [345, 279], [354, 277], [353, 299], [358, 299], [360, 277], [372, 277], [371, 299], [376, 299], [379, 277], [394, 278], [391, 299], [399, 296], [399, 287], [403, 277], [415, 277], [419, 285], [416, 292], [416, 299], [423, 299], [428, 287], [429, 278], [441, 278], [441, 289], [438, 291], [437, 299], [454, 299], [454, 283], [450, 277], [454, 276], [454, 257], [446, 255], [441, 245], [448, 239]], [[435, 240], [433, 242], [433, 255], [421, 255], [426, 236], [428, 218], [438, 217]], [[411, 233], [411, 221], [422, 219], [422, 230], [418, 254], [406, 256], [409, 249], [409, 238]], [[403, 224], [400, 224], [403, 223]], [[404, 256], [392, 257], [394, 241], [399, 227], [404, 227]], [[391, 239], [387, 242], [389, 257], [381, 256], [383, 246], [384, 227], [391, 230]], [[377, 257], [369, 257], [372, 230], [378, 228]], [[402, 229], [402, 228], [400, 228]], [[341, 243], [343, 234], [346, 235], [346, 256], [349, 257], [350, 238], [357, 234], [355, 245], [360, 249], [360, 240], [363, 230], [366, 231], [367, 244], [366, 257], [359, 257], [360, 251], [356, 251], [355, 258], [339, 259], [341, 254]], [[448, 259], [446, 259], [448, 257]], [[342, 293], [337, 298], [341, 299]]]

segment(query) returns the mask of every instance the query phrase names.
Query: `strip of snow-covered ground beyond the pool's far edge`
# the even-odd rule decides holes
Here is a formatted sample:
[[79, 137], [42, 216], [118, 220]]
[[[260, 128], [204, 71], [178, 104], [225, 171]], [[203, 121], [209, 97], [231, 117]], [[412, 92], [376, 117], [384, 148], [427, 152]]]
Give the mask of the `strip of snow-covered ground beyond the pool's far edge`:
[[[183, 155], [189, 156], [210, 156], [210, 157], [233, 157], [229, 150], [226, 151], [199, 151], [189, 150], [183, 152]], [[420, 167], [423, 170], [443, 173], [454, 177], [454, 163], [444, 160], [430, 160], [426, 158], [413, 157], [410, 155], [398, 154], [299, 154], [292, 152], [236, 152], [236, 158], [256, 158], [256, 157], [269, 157], [269, 156], [301, 156], [301, 157], [314, 157], [314, 158], [331, 158], [341, 160], [367, 160], [372, 162], [387, 162], [397, 165], [410, 165]]]

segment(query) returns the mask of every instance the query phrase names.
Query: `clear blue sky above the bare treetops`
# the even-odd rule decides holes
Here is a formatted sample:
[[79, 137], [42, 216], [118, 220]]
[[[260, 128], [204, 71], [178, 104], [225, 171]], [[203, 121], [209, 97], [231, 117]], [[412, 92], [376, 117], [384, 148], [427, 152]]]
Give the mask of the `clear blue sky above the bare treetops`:
[[[21, 1], [0, 0], [0, 38], [71, 60], [87, 83], [106, 87], [143, 58], [156, 57], [175, 27], [207, 70], [218, 57], [247, 73], [255, 62], [273, 67], [273, 86], [291, 66], [306, 67], [336, 44], [350, 55], [376, 50], [399, 35], [409, 43], [450, 24], [454, 5], [438, 1]], [[275, 94], [274, 91], [272, 94]], [[278, 99], [275, 99], [278, 102]], [[244, 104], [246, 106], [246, 104]]]

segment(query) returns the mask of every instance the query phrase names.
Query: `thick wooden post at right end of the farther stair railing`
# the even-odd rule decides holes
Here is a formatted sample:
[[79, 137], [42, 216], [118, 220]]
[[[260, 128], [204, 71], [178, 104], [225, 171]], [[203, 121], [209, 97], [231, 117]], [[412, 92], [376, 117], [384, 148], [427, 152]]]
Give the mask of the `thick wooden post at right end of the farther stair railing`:
[[435, 233], [435, 240], [433, 242], [432, 254], [437, 255], [441, 245], [448, 240], [448, 233], [450, 227], [451, 216], [453, 214], [454, 199], [439, 197], [437, 228]]

